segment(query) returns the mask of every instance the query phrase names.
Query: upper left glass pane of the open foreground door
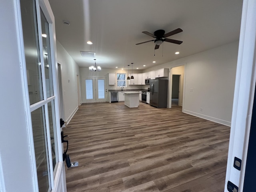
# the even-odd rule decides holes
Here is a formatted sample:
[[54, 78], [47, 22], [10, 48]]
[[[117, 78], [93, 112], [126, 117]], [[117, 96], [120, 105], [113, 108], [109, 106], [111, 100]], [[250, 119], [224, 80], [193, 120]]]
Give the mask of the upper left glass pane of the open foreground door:
[[36, 9], [33, 0], [20, 0], [30, 104], [43, 100]]

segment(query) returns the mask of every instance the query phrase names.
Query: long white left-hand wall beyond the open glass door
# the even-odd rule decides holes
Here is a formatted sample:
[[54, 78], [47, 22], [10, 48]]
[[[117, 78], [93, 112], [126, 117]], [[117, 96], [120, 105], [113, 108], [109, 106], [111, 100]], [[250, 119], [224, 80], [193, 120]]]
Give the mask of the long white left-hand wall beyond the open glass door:
[[[61, 65], [62, 89], [64, 102], [64, 120], [69, 122], [78, 109], [77, 75], [80, 79], [80, 71], [76, 62], [71, 58], [62, 44], [57, 44], [57, 61]], [[79, 82], [80, 84], [80, 82]], [[81, 97], [80, 97], [81, 98]], [[81, 100], [81, 99], [80, 99]]]

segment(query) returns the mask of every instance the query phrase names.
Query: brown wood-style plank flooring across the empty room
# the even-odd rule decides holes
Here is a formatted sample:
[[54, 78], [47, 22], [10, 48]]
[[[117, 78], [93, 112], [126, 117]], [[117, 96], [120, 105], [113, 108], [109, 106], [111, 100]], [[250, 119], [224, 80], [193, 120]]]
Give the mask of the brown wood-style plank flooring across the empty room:
[[68, 192], [224, 191], [230, 127], [179, 106], [82, 104], [63, 131]]

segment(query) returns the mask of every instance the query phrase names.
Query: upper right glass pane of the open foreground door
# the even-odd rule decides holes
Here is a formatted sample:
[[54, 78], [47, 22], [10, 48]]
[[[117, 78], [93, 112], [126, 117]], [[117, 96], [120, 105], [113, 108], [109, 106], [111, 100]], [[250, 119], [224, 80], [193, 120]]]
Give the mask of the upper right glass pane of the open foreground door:
[[41, 13], [41, 26], [42, 26], [42, 42], [43, 42], [43, 57], [44, 57], [44, 72], [46, 78], [46, 95], [47, 98], [53, 96], [53, 82], [52, 82], [52, 64], [50, 54], [50, 37], [49, 37], [49, 24], [42, 12]]

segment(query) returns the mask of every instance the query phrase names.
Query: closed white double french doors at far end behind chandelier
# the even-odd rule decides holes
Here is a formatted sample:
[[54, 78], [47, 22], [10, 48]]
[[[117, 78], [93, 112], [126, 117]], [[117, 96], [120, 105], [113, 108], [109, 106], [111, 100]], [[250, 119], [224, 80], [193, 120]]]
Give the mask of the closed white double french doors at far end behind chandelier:
[[83, 102], [106, 102], [106, 77], [82, 77]]

